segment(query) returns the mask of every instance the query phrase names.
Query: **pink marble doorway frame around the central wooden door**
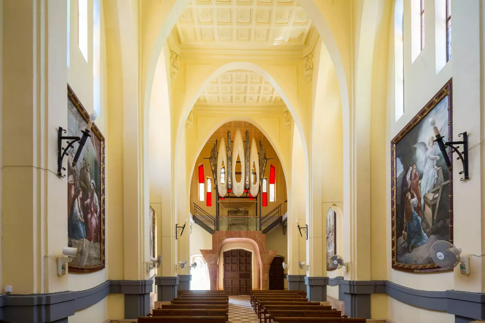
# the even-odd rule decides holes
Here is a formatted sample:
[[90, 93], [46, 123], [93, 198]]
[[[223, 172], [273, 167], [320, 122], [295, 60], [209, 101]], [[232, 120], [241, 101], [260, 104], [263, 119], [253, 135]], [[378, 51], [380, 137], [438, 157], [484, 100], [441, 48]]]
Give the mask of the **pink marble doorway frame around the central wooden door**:
[[229, 242], [248, 242], [256, 252], [258, 285], [253, 289], [268, 289], [268, 276], [273, 258], [278, 250], [266, 249], [266, 235], [261, 231], [216, 231], [212, 235], [212, 249], [200, 249], [209, 268], [210, 289], [217, 290], [217, 263], [222, 247]]

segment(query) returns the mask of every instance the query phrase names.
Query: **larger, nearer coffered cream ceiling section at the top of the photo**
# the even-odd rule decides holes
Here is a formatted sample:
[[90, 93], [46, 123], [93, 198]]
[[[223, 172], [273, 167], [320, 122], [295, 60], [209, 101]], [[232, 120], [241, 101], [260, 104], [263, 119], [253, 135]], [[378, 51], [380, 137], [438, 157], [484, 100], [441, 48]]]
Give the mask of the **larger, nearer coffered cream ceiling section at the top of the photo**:
[[297, 0], [192, 0], [175, 28], [182, 49], [303, 49], [314, 30]]

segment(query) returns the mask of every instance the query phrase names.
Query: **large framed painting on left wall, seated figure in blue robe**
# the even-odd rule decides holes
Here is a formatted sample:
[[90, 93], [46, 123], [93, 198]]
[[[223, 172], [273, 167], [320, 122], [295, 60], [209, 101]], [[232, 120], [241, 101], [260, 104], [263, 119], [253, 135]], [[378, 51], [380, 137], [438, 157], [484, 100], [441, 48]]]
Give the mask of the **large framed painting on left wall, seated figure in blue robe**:
[[[67, 85], [67, 136], [82, 136], [89, 113]], [[88, 248], [84, 266], [78, 259], [69, 263], [70, 273], [91, 273], [105, 268], [105, 141], [93, 124], [81, 156], [72, 165], [78, 143], [67, 155], [67, 245]]]

